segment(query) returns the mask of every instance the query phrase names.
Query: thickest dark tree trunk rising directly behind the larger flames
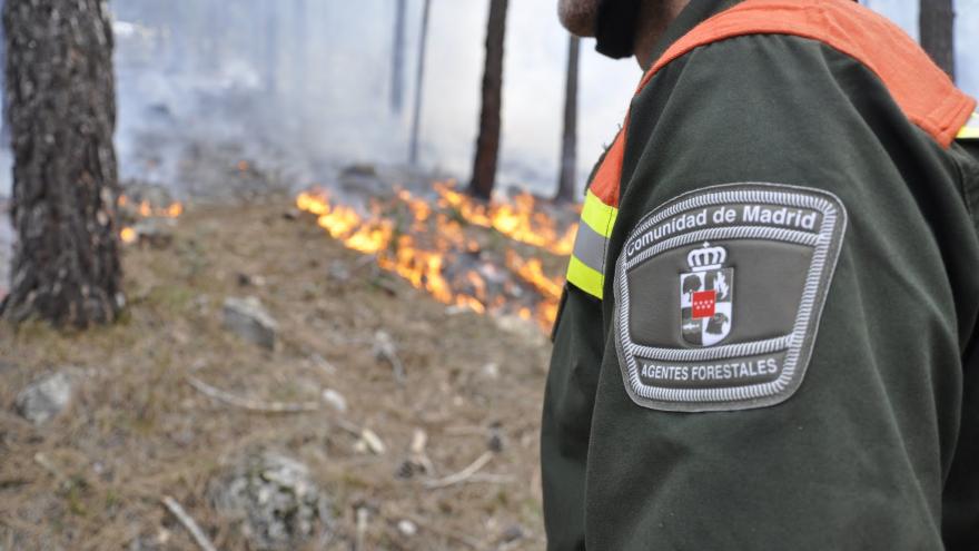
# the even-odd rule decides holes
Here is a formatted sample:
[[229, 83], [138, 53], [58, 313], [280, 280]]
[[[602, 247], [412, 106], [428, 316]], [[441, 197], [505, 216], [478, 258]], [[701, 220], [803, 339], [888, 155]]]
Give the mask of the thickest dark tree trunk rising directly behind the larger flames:
[[483, 109], [479, 114], [479, 137], [469, 195], [481, 199], [493, 196], [496, 165], [500, 157], [500, 111], [503, 107], [503, 41], [506, 36], [507, 0], [490, 0], [486, 24], [486, 66], [483, 71]]

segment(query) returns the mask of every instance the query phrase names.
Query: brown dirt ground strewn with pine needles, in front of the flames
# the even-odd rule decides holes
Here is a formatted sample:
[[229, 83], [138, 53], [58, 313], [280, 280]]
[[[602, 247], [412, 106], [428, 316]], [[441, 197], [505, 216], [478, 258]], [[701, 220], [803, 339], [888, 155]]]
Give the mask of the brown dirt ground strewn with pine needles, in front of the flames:
[[[326, 549], [355, 547], [358, 510], [360, 549], [543, 549], [543, 332], [446, 308], [312, 219], [284, 216], [289, 208], [286, 197], [191, 207], [169, 247], [127, 248], [129, 304], [115, 326], [0, 326], [0, 549], [197, 549], [164, 495], [218, 549], [247, 549], [207, 486], [254, 449], [309, 466], [336, 518]], [[249, 295], [279, 324], [275, 352], [221, 327], [225, 298]], [[378, 331], [393, 337], [403, 382], [373, 352]], [[69, 366], [63, 414], [34, 426], [16, 413], [21, 388]], [[188, 376], [256, 401], [322, 406], [250, 412]], [[320, 400], [325, 388], [346, 397], [346, 413]], [[365, 450], [364, 429], [383, 452]], [[419, 431], [434, 472], [405, 464]], [[477, 476], [426, 485], [487, 452]]]

